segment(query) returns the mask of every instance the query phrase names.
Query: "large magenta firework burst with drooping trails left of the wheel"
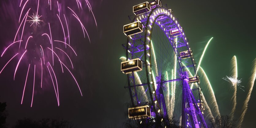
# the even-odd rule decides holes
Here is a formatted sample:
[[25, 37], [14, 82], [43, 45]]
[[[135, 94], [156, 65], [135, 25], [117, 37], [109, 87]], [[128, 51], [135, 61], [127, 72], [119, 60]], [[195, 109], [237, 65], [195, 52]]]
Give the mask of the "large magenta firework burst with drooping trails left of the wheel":
[[[82, 96], [78, 82], [71, 71], [74, 68], [71, 61], [72, 56], [77, 56], [77, 54], [72, 47], [74, 43], [70, 41], [70, 38], [72, 38], [70, 32], [71, 23], [78, 24], [82, 29], [80, 32], [83, 32], [84, 38], [88, 38], [90, 42], [89, 34], [84, 25], [85, 20], [87, 20], [85, 12], [90, 13], [96, 28], [97, 23], [89, 0], [19, 0], [19, 3], [13, 0], [9, 2], [13, 3], [9, 7], [20, 13], [17, 16], [19, 18], [16, 19], [18, 27], [15, 36], [13, 35], [13, 42], [9, 42], [0, 51], [1, 58], [5, 57], [6, 54], [12, 55], [12, 58], [5, 62], [6, 64], [0, 74], [10, 62], [16, 65], [13, 80], [15, 80], [18, 71], [25, 70], [23, 71], [26, 77], [25, 83], [22, 84], [24, 89], [22, 90], [21, 104], [24, 100], [26, 88], [29, 88], [26, 86], [27, 80], [33, 78], [32, 107], [35, 98], [34, 89], [38, 86], [35, 82], [40, 78], [40, 81], [38, 81], [40, 88], [44, 88], [44, 80], [52, 82], [59, 106], [59, 86], [56, 73], [64, 73], [64, 71], [68, 71], [65, 73], [72, 76], [71, 78], [74, 79]], [[17, 58], [18, 61], [15, 62], [13, 58]], [[21, 67], [21, 63], [22, 66], [25, 64], [27, 67]], [[54, 66], [57, 67], [53, 68]]]

